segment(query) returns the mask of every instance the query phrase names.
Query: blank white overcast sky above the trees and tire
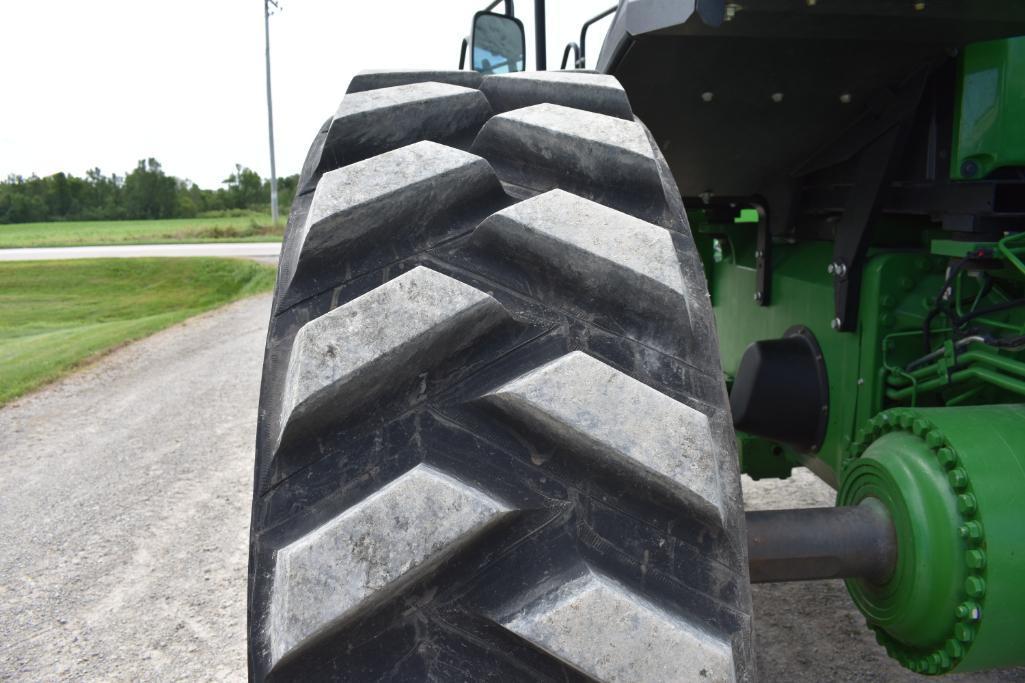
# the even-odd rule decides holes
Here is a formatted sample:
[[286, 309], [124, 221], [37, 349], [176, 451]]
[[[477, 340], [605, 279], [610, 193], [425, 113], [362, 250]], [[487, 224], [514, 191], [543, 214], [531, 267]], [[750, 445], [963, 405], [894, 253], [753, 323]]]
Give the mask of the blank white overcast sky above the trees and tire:
[[[363, 69], [455, 69], [486, 0], [281, 0], [271, 17], [279, 175]], [[533, 0], [518, 0], [533, 68]], [[548, 67], [615, 0], [547, 0]], [[500, 9], [500, 7], [499, 7]], [[588, 33], [588, 67], [606, 18]], [[204, 188], [270, 175], [262, 0], [0, 2], [0, 177], [122, 174], [155, 157]]]

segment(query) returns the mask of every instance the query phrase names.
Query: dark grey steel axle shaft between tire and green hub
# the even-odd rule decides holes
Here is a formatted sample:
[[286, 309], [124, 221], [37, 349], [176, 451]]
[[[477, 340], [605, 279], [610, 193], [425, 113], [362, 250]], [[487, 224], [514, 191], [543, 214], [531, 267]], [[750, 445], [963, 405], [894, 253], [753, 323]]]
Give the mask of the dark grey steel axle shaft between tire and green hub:
[[881, 584], [897, 562], [897, 534], [881, 503], [747, 513], [752, 584], [864, 578]]

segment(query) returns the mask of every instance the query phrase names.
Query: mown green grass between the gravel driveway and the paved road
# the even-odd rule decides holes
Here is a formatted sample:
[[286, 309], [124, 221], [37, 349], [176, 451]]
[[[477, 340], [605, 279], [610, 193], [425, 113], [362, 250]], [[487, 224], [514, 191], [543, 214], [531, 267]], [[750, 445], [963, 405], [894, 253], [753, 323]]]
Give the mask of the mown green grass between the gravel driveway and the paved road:
[[271, 289], [232, 258], [0, 263], [0, 405], [126, 342]]

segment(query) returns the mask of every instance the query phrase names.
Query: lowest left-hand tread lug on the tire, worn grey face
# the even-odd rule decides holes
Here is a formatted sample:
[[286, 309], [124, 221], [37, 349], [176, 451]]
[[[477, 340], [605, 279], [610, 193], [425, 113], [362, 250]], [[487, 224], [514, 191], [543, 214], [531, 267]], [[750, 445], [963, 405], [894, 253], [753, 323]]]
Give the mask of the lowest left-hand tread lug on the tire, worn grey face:
[[282, 548], [268, 626], [271, 667], [437, 566], [509, 512], [419, 465]]

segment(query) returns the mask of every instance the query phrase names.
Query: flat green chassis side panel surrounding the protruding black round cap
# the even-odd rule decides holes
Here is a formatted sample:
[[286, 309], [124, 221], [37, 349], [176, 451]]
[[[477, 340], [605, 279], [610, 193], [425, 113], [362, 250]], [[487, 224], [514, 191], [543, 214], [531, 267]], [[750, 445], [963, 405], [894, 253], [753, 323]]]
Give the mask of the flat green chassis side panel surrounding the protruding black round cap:
[[[697, 216], [700, 219], [700, 216]], [[695, 216], [692, 216], [692, 220]], [[808, 327], [818, 339], [829, 380], [829, 420], [818, 452], [797, 453], [740, 435], [741, 464], [754, 477], [785, 476], [779, 452], [836, 485], [836, 475], [858, 425], [883, 407], [884, 362], [905, 363], [921, 355], [920, 330], [926, 313], [943, 284], [945, 259], [908, 251], [870, 253], [865, 268], [861, 315], [855, 333], [831, 328], [833, 282], [826, 272], [832, 259], [829, 242], [798, 242], [773, 247], [772, 304], [753, 300], [755, 227], [706, 226], [719, 234], [722, 256], [710, 264], [709, 290], [720, 336], [720, 356], [732, 380], [748, 345], [778, 338], [794, 325]], [[709, 238], [699, 235], [699, 245]], [[704, 249], [706, 253], [713, 248]], [[714, 259], [713, 259], [714, 262]], [[706, 266], [707, 267], [707, 266]], [[770, 457], [771, 456], [771, 457]]]

